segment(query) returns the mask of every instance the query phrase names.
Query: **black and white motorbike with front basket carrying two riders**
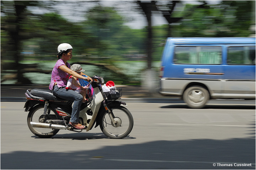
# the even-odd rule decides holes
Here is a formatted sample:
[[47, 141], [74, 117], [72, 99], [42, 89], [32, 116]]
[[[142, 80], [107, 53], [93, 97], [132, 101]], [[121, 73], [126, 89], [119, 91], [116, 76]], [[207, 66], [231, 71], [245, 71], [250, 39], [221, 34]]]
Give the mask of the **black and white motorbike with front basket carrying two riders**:
[[[89, 131], [95, 125], [100, 126], [104, 135], [109, 138], [124, 138], [132, 131], [133, 117], [130, 111], [124, 107], [125, 102], [118, 101], [122, 96], [122, 88], [116, 88], [114, 94], [103, 92], [101, 84], [104, 79], [99, 76], [92, 77], [90, 85], [94, 94], [80, 107], [79, 123]], [[73, 101], [64, 100], [55, 96], [51, 90], [27, 89], [25, 92], [25, 112], [28, 128], [31, 132], [42, 138], [49, 138], [65, 129], [81, 132], [70, 126]]]

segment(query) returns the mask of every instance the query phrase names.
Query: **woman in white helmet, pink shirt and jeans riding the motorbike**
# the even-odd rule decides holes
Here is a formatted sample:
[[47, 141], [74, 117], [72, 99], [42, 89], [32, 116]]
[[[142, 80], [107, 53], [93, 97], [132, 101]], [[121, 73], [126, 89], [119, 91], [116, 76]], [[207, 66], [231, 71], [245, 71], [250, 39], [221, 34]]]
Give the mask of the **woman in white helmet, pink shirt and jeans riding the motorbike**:
[[78, 94], [73, 90], [65, 89], [65, 87], [67, 85], [69, 75], [84, 79], [86, 81], [92, 81], [92, 79], [90, 77], [83, 77], [70, 69], [70, 64], [67, 61], [72, 58], [72, 49], [73, 47], [67, 43], [63, 43], [58, 46], [59, 60], [56, 62], [52, 70], [52, 78], [49, 89], [52, 90], [54, 95], [60, 98], [74, 101], [69, 124], [76, 129], [84, 129], [85, 127], [79, 123], [79, 111], [83, 97], [81, 94]]

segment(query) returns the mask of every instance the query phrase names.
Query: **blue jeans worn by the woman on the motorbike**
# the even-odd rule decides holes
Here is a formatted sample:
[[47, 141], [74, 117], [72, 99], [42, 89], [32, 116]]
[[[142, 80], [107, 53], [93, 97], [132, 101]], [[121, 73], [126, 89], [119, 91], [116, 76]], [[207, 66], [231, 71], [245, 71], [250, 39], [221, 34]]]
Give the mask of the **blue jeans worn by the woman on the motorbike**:
[[77, 123], [79, 122], [79, 112], [80, 112], [80, 106], [82, 104], [83, 97], [81, 94], [78, 94], [74, 90], [67, 90], [65, 87], [58, 87], [55, 85], [53, 87], [53, 94], [55, 96], [58, 96], [60, 98], [63, 98], [65, 100], [72, 100], [74, 101], [73, 108], [72, 108], [72, 113], [71, 113], [71, 119], [70, 121], [72, 123]]

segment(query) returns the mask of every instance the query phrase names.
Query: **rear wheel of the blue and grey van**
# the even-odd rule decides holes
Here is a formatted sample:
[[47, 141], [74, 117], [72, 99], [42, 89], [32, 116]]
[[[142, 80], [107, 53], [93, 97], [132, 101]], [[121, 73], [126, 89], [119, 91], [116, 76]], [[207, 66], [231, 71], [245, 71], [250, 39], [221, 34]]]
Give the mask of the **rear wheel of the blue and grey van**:
[[201, 109], [209, 100], [209, 92], [202, 86], [188, 87], [183, 93], [183, 100], [190, 108]]

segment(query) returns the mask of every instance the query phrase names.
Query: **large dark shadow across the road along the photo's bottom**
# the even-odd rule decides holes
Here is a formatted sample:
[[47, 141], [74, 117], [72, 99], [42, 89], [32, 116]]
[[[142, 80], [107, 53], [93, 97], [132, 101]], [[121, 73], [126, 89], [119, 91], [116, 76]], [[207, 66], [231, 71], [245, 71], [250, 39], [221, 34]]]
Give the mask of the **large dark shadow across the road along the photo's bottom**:
[[[255, 134], [251, 138], [228, 140], [158, 140], [120, 146], [102, 143], [99, 149], [90, 149], [85, 142], [75, 152], [65, 152], [66, 145], [62, 148], [59, 137], [53, 140], [60, 143], [53, 152], [1, 154], [1, 169], [255, 169]], [[234, 166], [234, 163], [251, 166]], [[231, 164], [232, 167], [228, 166]]]

